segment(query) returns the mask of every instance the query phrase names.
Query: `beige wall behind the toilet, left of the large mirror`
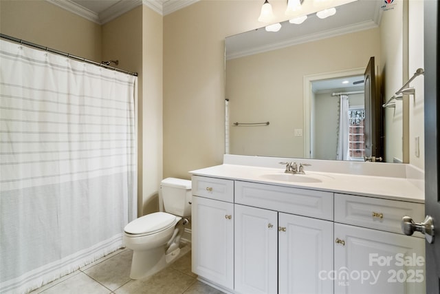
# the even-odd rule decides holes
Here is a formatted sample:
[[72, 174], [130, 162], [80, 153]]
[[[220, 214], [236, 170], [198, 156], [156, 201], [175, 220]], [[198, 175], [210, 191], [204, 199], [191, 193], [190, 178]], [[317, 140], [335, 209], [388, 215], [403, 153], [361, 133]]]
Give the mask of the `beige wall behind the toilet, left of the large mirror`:
[[224, 39], [260, 27], [260, 8], [202, 0], [164, 17], [164, 177], [223, 162]]

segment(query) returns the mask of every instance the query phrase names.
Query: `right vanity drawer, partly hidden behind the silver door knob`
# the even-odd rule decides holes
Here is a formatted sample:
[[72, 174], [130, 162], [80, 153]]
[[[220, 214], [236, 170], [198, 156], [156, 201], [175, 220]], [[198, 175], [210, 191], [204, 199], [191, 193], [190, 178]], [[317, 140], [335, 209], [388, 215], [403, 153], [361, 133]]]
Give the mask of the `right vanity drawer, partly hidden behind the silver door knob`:
[[[424, 204], [335, 193], [335, 222], [402, 233], [403, 216], [422, 222]], [[423, 238], [419, 232], [414, 235]]]

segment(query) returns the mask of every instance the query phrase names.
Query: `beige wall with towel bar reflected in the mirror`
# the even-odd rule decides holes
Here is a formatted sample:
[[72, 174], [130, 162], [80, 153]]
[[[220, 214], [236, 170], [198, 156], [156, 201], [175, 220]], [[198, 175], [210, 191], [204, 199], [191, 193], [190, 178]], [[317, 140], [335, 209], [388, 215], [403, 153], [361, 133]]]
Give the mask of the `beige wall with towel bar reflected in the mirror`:
[[[303, 157], [303, 78], [380, 61], [377, 28], [226, 61], [230, 121], [270, 121], [267, 127], [231, 127], [230, 153]], [[336, 148], [336, 147], [335, 147]]]

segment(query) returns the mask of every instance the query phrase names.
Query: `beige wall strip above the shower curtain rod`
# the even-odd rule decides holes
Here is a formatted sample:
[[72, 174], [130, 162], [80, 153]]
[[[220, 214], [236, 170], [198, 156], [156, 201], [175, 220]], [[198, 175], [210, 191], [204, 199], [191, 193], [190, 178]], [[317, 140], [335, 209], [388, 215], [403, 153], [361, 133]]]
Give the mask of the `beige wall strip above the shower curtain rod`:
[[0, 32], [101, 61], [101, 26], [47, 1], [0, 1]]

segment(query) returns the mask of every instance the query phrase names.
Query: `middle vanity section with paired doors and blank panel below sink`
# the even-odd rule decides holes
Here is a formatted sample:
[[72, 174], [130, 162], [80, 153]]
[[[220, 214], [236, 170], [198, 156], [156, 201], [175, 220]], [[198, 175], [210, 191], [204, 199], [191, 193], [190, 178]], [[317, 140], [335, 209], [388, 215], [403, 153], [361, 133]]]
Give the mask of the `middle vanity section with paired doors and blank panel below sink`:
[[333, 269], [333, 193], [235, 181], [234, 197], [236, 293], [333, 293], [318, 275]]

